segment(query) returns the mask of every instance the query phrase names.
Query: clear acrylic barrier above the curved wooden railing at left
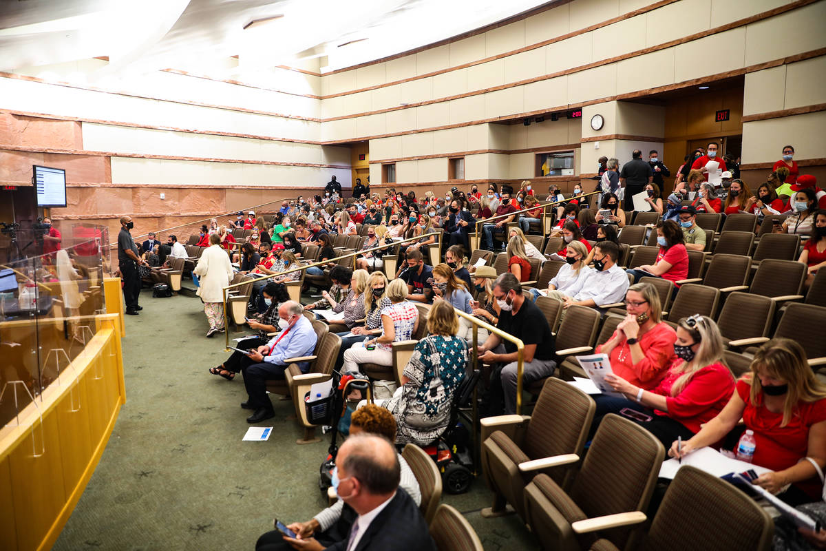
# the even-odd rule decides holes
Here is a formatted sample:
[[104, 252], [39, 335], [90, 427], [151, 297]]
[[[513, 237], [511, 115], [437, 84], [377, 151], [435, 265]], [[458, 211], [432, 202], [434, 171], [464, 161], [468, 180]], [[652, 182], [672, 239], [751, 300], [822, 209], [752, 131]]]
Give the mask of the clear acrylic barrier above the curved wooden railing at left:
[[32, 397], [40, 401], [50, 384], [70, 384], [60, 375], [93, 338], [94, 316], [106, 312], [102, 281], [110, 273], [105, 226], [65, 221], [21, 227], [3, 238], [0, 427], [14, 425], [17, 411]]

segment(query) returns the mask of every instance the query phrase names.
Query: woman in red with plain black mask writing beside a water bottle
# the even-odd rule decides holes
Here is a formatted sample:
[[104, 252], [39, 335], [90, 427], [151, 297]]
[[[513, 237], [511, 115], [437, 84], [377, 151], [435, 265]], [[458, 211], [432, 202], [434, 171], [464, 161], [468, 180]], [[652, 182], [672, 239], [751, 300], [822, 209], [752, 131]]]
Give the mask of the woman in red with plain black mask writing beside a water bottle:
[[[691, 439], [679, 446], [673, 442], [668, 454], [682, 458], [714, 445], [740, 420], [755, 439], [752, 463], [771, 469], [752, 483], [793, 506], [821, 498], [823, 483], [813, 462], [822, 465], [826, 458], [826, 385], [814, 377], [800, 344], [790, 339], [763, 344], [723, 411]], [[740, 432], [726, 442], [736, 443]]]

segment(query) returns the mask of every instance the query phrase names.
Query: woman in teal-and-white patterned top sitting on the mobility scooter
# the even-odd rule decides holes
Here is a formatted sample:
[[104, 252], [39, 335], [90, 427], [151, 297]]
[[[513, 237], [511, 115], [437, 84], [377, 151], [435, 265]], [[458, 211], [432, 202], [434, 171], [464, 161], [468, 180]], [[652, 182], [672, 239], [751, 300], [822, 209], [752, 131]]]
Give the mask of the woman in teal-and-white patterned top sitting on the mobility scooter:
[[427, 317], [429, 335], [415, 345], [401, 387], [385, 404], [396, 417], [396, 444], [432, 444], [447, 429], [453, 392], [468, 367], [468, 345], [455, 336], [458, 329], [453, 306], [435, 302]]

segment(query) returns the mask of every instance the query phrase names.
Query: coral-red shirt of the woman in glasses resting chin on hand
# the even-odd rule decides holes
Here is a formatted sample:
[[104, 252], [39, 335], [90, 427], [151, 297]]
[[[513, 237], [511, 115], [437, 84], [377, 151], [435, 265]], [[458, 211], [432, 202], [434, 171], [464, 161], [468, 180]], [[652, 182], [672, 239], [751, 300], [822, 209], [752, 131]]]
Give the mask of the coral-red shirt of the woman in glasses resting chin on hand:
[[[613, 340], [617, 332], [611, 335]], [[629, 345], [625, 339], [617, 344], [609, 358], [611, 368], [619, 377], [633, 384], [651, 390], [657, 387], [672, 364], [676, 356], [674, 355], [674, 343], [676, 342], [676, 332], [667, 323], [658, 323], [651, 330], [648, 330], [639, 337], [639, 346], [643, 349], [645, 357], [638, 363], [633, 363]], [[600, 354], [602, 344], [596, 347], [596, 354]]]

